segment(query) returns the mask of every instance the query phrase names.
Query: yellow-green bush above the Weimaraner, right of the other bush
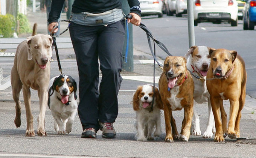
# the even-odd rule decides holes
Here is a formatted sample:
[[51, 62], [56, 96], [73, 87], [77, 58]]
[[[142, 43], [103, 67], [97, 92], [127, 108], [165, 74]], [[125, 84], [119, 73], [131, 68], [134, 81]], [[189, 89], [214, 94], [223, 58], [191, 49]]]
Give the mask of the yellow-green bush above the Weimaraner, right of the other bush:
[[21, 33], [32, 33], [32, 29], [30, 28], [29, 21], [27, 20], [27, 16], [21, 13], [18, 13], [18, 18], [17, 20], [19, 21], [19, 29], [17, 30], [17, 34]]

